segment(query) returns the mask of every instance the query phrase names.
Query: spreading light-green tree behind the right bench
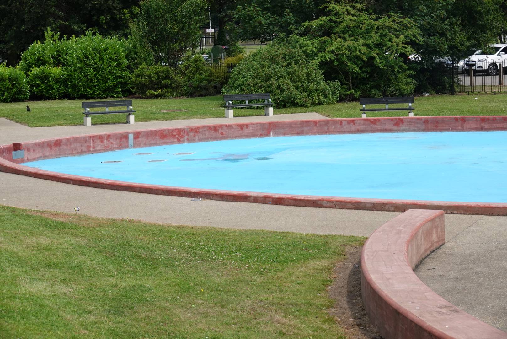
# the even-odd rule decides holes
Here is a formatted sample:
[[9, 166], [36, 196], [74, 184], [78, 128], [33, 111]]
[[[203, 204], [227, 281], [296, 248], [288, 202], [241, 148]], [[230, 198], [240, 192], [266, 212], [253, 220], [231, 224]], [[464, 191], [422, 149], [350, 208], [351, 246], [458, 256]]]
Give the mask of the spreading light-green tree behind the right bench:
[[410, 19], [366, 13], [363, 6], [333, 3], [325, 15], [303, 25], [303, 45], [328, 80], [339, 80], [343, 95], [403, 96], [415, 82], [401, 54], [414, 51], [419, 31]]

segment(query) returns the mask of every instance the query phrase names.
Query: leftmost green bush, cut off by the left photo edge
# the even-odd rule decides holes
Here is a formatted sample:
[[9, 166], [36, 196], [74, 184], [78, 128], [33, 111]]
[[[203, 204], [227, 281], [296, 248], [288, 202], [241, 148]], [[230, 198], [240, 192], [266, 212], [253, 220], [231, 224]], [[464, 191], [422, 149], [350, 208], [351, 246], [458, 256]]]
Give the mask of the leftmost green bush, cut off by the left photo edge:
[[6, 67], [0, 63], [0, 103], [25, 101], [29, 89], [25, 74], [14, 67]]

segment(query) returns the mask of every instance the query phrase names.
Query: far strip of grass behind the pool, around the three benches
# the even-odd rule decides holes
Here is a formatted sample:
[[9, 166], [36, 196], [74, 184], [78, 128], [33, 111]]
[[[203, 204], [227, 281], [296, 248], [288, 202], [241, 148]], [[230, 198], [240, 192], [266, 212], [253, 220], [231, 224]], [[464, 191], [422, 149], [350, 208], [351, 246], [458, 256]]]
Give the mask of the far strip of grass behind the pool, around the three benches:
[[[477, 98], [477, 99], [476, 99]], [[416, 97], [415, 116], [426, 115], [506, 115], [507, 94], [430, 95]], [[82, 100], [28, 101], [0, 104], [0, 117], [30, 127], [83, 124]], [[31, 112], [26, 112], [29, 105]], [[135, 121], [160, 121], [224, 117], [222, 95], [183, 99], [133, 99]], [[391, 106], [395, 107], [395, 106]], [[275, 109], [275, 114], [317, 112], [330, 118], [360, 117], [358, 101], [314, 107]], [[163, 112], [178, 110], [177, 112]], [[262, 115], [262, 109], [235, 109], [234, 116]], [[371, 112], [369, 117], [407, 116], [407, 112]], [[231, 120], [234, 121], [234, 120]], [[92, 124], [123, 123], [125, 114], [96, 115]]]

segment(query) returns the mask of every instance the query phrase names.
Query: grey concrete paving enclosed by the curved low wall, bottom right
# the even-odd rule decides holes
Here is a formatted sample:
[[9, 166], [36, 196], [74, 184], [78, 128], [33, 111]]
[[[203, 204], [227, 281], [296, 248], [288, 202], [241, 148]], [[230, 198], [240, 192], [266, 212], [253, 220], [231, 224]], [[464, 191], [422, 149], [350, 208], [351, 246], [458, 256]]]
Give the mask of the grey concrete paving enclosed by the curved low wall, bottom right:
[[[448, 232], [446, 216], [446, 232]], [[434, 292], [507, 332], [507, 218], [480, 216], [415, 270]]]

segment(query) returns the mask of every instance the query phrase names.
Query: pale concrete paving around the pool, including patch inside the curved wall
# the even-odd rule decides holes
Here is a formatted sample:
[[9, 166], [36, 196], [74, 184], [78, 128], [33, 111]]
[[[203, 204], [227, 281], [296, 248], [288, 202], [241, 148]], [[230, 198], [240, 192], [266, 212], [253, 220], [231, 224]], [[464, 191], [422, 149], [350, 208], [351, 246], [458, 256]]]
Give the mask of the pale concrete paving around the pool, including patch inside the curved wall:
[[[272, 117], [154, 121], [134, 125], [36, 128], [0, 118], [0, 145], [119, 130], [301, 119], [326, 118], [317, 113], [302, 113]], [[75, 207], [80, 207], [79, 213], [91, 216], [162, 224], [360, 236], [369, 236], [380, 225], [399, 214], [215, 200], [192, 201], [190, 198], [68, 185], [2, 172], [0, 204], [60, 212], [73, 212]], [[507, 277], [506, 226], [506, 217], [446, 215], [448, 244], [430, 255], [416, 272], [430, 288], [457, 307], [502, 329], [505, 329], [507, 319], [504, 307], [507, 300], [504, 283]]]

